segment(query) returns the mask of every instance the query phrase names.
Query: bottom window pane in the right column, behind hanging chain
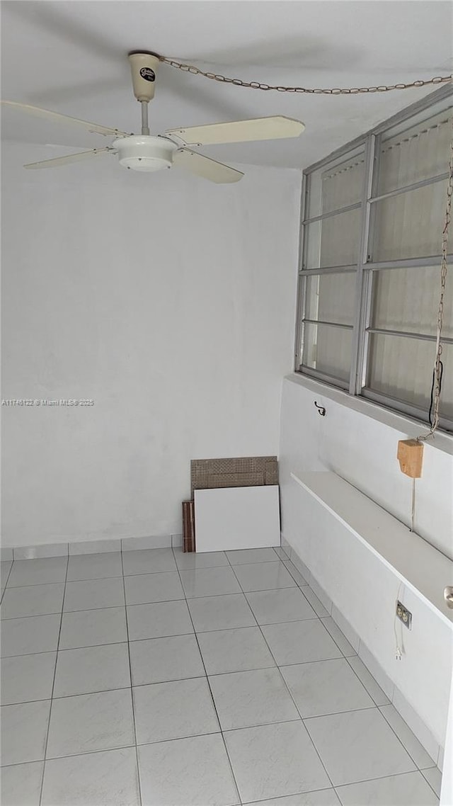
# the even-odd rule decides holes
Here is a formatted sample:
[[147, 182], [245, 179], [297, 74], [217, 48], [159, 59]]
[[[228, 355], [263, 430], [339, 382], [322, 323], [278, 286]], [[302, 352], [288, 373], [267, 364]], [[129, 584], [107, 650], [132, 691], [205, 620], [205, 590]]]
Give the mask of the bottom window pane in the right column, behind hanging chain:
[[[368, 388], [428, 412], [435, 343], [403, 336], [371, 334]], [[453, 418], [453, 346], [443, 345], [441, 415]]]

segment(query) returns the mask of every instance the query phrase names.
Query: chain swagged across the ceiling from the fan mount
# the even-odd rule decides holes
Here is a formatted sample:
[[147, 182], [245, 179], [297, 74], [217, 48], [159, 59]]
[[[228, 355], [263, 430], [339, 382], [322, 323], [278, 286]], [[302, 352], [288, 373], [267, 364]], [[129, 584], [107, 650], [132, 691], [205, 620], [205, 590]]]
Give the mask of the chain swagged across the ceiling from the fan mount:
[[311, 95], [357, 95], [358, 93], [387, 93], [391, 89], [414, 89], [414, 87], [426, 87], [430, 84], [444, 84], [446, 81], [451, 81], [453, 76], [435, 76], [428, 78], [426, 81], [412, 81], [409, 84], [401, 82], [400, 84], [384, 85], [379, 87], [351, 87], [350, 89], [341, 89], [334, 87], [333, 89], [307, 89], [306, 87], [285, 87], [274, 86], [272, 84], [264, 84], [261, 81], [243, 81], [242, 78], [228, 78], [219, 73], [210, 73], [206, 70], [201, 70], [195, 67], [194, 64], [185, 64], [185, 62], [177, 61], [176, 59], [168, 59], [167, 56], [159, 56], [159, 60], [170, 67], [175, 67], [178, 70], [183, 70], [185, 73], [192, 73], [193, 76], [203, 76], [210, 78], [211, 81], [220, 81], [222, 84], [234, 84], [235, 87], [248, 87], [248, 89], [275, 89], [278, 93], [309, 93]]

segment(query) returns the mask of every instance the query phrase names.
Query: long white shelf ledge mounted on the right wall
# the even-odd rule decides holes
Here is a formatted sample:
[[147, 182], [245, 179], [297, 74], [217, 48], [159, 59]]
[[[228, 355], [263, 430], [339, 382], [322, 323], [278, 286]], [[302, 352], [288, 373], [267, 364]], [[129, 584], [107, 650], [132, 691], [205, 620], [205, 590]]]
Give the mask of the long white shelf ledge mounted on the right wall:
[[453, 609], [443, 598], [443, 588], [453, 585], [450, 559], [336, 473], [291, 477], [452, 625]]

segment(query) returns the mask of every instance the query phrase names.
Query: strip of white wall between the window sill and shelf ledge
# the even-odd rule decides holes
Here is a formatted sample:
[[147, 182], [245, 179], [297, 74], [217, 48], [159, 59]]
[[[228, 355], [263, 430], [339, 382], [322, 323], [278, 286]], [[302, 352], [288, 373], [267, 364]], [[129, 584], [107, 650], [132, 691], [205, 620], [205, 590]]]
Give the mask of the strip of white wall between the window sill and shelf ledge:
[[[319, 416], [315, 400], [326, 407], [326, 417]], [[397, 443], [425, 431], [408, 418], [294, 374], [283, 384], [281, 478], [291, 471], [334, 471], [409, 526], [412, 479], [400, 471]], [[425, 442], [414, 531], [453, 559], [452, 492], [453, 437], [438, 434]]]

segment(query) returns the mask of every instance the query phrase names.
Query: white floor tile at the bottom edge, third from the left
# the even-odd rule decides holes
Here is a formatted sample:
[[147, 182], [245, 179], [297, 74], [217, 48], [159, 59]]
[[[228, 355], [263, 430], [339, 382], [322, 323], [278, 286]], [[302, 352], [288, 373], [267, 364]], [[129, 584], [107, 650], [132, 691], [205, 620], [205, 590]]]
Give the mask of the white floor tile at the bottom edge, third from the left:
[[219, 733], [139, 747], [143, 806], [235, 806], [239, 797]]

